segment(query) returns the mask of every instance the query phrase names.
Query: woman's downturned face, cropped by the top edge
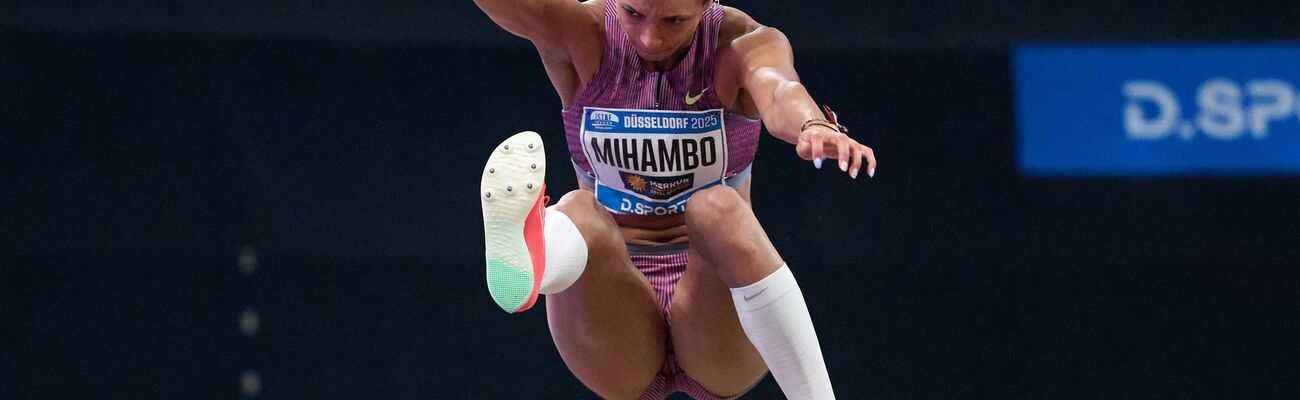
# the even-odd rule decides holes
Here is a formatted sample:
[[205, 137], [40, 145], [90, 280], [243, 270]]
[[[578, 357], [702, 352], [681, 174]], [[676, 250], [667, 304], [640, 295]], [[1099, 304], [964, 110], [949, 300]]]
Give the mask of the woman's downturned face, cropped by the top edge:
[[618, 1], [619, 25], [646, 61], [668, 61], [690, 45], [708, 3], [701, 0]]

